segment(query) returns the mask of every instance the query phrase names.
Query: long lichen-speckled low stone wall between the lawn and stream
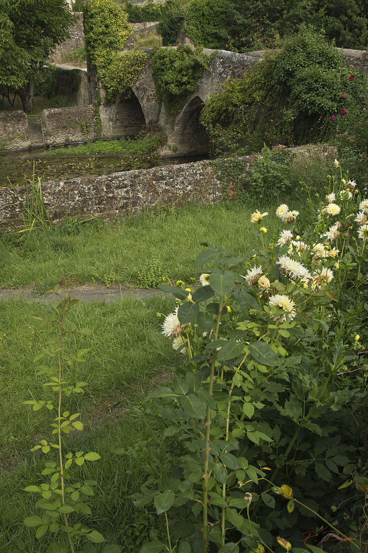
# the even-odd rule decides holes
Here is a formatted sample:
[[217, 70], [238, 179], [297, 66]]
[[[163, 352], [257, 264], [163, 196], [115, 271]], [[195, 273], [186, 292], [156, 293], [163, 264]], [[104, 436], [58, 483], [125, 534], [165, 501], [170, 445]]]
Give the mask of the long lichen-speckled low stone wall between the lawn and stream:
[[[190, 200], [208, 204], [220, 199], [220, 182], [210, 161], [47, 181], [42, 189], [46, 211], [55, 221], [62, 220], [66, 213], [113, 219], [128, 209], [135, 211]], [[24, 186], [17, 187], [17, 194], [25, 202]], [[0, 222], [5, 226], [22, 226], [19, 201], [10, 187], [0, 187]]]

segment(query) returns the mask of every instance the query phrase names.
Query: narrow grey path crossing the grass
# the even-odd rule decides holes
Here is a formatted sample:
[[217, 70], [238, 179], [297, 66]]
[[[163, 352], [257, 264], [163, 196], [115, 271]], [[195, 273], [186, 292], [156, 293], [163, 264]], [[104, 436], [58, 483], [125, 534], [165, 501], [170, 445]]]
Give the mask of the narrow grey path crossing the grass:
[[[71, 290], [71, 299], [81, 299], [83, 301], [116, 301], [120, 299], [134, 298], [146, 300], [159, 294], [166, 294], [161, 290], [147, 290], [142, 288], [128, 288], [127, 286], [78, 286]], [[171, 295], [171, 294], [167, 294]], [[0, 300], [11, 298], [23, 298], [25, 301], [41, 301], [47, 303], [56, 301], [55, 294], [39, 294], [32, 290], [0, 290]]]

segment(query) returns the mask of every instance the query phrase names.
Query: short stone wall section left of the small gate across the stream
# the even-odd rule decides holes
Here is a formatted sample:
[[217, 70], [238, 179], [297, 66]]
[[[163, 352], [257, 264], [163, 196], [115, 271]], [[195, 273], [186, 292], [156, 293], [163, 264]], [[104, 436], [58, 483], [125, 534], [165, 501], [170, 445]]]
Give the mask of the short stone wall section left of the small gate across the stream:
[[30, 139], [24, 111], [0, 112], [0, 142], [7, 150], [28, 148]]

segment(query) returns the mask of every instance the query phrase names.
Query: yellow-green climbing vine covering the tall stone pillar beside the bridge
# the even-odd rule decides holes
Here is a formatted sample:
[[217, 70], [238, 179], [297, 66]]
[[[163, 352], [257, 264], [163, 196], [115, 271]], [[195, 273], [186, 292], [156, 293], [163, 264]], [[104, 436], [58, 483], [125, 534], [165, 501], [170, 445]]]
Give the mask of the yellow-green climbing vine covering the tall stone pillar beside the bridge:
[[122, 52], [132, 33], [127, 13], [113, 0], [87, 0], [83, 6], [83, 28], [87, 52], [97, 77], [112, 100], [117, 92], [134, 85], [143, 69], [143, 51]]

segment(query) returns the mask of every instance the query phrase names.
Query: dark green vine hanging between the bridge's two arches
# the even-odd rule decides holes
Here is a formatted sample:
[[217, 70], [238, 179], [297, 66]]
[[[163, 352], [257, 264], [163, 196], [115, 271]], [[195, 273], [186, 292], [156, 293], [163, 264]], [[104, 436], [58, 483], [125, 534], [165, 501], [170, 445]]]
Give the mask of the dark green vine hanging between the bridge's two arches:
[[150, 65], [157, 98], [165, 106], [167, 117], [174, 121], [191, 92], [197, 90], [197, 81], [203, 71], [209, 70], [214, 54], [192, 50], [190, 46], [179, 48], [154, 48], [150, 53]]

